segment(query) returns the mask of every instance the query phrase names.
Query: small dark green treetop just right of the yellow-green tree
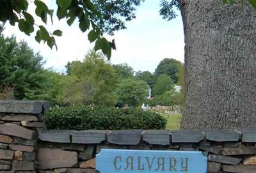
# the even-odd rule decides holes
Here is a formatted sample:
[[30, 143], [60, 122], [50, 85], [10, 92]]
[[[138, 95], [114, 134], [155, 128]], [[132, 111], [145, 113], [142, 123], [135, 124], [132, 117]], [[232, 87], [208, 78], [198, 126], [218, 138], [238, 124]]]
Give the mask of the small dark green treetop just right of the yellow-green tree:
[[118, 76], [119, 81], [133, 77], [134, 70], [127, 63], [113, 64], [112, 66], [115, 69], [115, 72], [116, 72], [116, 75]]

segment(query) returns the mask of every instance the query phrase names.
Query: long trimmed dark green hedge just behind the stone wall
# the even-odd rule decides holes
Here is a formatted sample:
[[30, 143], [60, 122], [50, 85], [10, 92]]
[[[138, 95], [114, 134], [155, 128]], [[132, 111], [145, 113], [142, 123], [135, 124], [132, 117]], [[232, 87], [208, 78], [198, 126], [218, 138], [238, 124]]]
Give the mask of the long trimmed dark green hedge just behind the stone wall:
[[61, 130], [165, 129], [166, 122], [154, 112], [115, 107], [60, 107], [46, 114], [47, 128]]

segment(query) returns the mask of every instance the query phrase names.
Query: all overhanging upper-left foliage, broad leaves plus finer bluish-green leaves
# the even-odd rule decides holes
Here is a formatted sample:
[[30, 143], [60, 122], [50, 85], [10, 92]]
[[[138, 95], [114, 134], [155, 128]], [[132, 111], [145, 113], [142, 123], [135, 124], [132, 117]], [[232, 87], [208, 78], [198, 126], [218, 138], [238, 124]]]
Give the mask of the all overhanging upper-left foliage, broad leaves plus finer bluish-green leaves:
[[[115, 42], [109, 42], [102, 35], [103, 33], [113, 34], [113, 31], [125, 29], [125, 21], [135, 18], [134, 6], [140, 5], [144, 0], [130, 1], [102, 1], [102, 0], [56, 0], [56, 15], [59, 20], [65, 19], [69, 26], [72, 26], [74, 20], [78, 20], [79, 28], [82, 32], [91, 29], [88, 34], [88, 40], [95, 42], [95, 50], [101, 49], [108, 57], [111, 57], [111, 48], [115, 49]], [[0, 1], [0, 21], [9, 21], [12, 26], [18, 23], [20, 31], [30, 35], [35, 31], [34, 17], [28, 12], [29, 6], [34, 3], [35, 14], [40, 17], [42, 22], [47, 23], [48, 18], [52, 18], [54, 10], [40, 0], [28, 3], [27, 0]], [[62, 32], [57, 29], [52, 33], [47, 31], [44, 26], [38, 26], [35, 40], [40, 43], [44, 41], [49, 47], [55, 46], [54, 36], [61, 36]]]

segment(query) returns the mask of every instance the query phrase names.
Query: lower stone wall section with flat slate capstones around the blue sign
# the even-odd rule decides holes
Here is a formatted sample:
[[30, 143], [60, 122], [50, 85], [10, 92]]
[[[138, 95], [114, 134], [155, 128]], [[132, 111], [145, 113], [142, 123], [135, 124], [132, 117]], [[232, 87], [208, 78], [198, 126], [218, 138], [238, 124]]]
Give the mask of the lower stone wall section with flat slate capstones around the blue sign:
[[[168, 130], [49, 130], [39, 133], [38, 171], [96, 173], [100, 149], [202, 151], [207, 172], [256, 172], [256, 129], [204, 132]], [[65, 158], [64, 160], [59, 158]]]

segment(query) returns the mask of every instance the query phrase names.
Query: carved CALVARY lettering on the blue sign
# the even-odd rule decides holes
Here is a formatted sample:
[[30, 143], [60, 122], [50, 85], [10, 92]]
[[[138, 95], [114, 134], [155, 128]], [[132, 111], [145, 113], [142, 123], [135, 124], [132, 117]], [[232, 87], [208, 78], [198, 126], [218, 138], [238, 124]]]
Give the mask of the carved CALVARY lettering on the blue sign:
[[188, 172], [189, 158], [149, 157], [149, 156], [115, 156], [113, 166], [115, 170], [152, 170], [155, 172]]

